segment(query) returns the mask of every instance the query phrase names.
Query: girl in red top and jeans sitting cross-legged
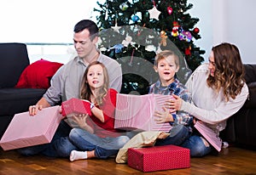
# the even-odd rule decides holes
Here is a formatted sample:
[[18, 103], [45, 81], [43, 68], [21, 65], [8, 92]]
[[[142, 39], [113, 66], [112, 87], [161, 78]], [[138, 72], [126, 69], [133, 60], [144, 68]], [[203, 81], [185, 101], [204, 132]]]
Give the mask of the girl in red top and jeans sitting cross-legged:
[[73, 116], [80, 128], [69, 134], [71, 142], [79, 148], [70, 154], [70, 161], [79, 159], [108, 158], [116, 155], [130, 138], [114, 129], [116, 91], [108, 89], [108, 71], [96, 61], [84, 72], [81, 99], [90, 101], [92, 116]]

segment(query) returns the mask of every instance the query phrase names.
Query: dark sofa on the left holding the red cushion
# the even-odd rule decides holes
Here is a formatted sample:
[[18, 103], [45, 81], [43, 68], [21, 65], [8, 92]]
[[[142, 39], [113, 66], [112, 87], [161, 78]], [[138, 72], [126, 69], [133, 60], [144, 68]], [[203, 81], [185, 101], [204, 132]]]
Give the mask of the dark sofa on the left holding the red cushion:
[[37, 103], [46, 89], [15, 88], [20, 74], [30, 65], [26, 44], [0, 43], [0, 138], [16, 113]]

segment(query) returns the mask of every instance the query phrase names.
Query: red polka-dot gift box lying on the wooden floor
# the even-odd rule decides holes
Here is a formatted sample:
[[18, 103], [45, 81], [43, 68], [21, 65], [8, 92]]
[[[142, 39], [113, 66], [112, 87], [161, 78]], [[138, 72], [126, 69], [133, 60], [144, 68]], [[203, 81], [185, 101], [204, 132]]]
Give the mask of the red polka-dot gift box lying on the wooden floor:
[[189, 149], [175, 145], [128, 149], [128, 166], [142, 172], [190, 167]]

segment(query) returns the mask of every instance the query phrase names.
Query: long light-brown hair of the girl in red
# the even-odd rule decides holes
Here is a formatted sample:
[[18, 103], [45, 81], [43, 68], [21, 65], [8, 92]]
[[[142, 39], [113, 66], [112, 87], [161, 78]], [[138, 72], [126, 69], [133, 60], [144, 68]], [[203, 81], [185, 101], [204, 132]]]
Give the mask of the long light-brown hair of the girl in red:
[[99, 61], [92, 62], [90, 65], [88, 65], [88, 67], [84, 71], [84, 76], [83, 76], [83, 79], [82, 79], [82, 87], [81, 87], [81, 97], [80, 98], [81, 99], [87, 99], [87, 100], [91, 101], [90, 95], [92, 93], [91, 93], [91, 90], [90, 90], [89, 83], [87, 81], [87, 74], [88, 74], [88, 71], [89, 71], [89, 69], [92, 65], [101, 65], [102, 69], [103, 69], [104, 83], [103, 83], [102, 87], [98, 89], [97, 95], [96, 95], [97, 104], [101, 105], [104, 97], [108, 93], [109, 78], [108, 78], [107, 68], [105, 67], [105, 65], [103, 65]]

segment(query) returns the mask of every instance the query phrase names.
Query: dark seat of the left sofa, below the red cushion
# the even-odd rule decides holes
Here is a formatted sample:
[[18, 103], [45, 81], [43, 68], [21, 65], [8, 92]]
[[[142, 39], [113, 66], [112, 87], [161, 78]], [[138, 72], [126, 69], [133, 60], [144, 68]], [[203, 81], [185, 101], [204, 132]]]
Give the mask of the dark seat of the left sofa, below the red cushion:
[[36, 104], [46, 89], [40, 88], [2, 88], [0, 89], [0, 116], [12, 116], [28, 110]]

